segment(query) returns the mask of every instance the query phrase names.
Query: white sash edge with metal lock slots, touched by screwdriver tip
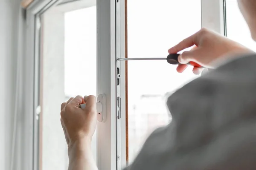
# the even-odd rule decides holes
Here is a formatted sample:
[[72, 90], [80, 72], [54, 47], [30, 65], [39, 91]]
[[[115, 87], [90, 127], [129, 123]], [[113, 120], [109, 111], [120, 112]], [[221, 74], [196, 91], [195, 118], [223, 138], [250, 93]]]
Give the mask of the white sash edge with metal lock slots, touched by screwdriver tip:
[[[125, 0], [116, 0], [116, 59], [125, 58]], [[119, 74], [119, 85], [116, 84], [116, 170], [122, 170], [126, 165], [126, 133], [125, 133], [125, 113], [126, 113], [126, 97], [125, 97], [125, 62], [116, 62], [116, 70]], [[118, 73], [116, 73], [118, 74]]]

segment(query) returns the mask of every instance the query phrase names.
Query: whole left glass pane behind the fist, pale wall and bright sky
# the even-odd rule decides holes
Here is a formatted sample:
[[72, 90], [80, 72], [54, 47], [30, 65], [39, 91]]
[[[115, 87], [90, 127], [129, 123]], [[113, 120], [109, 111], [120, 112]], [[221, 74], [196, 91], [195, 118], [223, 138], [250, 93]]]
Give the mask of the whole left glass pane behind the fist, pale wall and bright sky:
[[[67, 170], [61, 103], [77, 95], [96, 95], [96, 6], [69, 12], [60, 8], [52, 7], [42, 16], [42, 170]], [[92, 145], [96, 160], [96, 134]]]

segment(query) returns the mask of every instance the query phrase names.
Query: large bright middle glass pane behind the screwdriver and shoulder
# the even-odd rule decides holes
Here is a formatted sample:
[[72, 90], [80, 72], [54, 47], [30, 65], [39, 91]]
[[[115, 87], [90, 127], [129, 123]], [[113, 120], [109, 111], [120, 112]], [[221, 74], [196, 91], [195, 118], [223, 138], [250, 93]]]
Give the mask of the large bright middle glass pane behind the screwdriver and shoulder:
[[[128, 57], [167, 57], [201, 29], [201, 0], [128, 0]], [[128, 142], [132, 162], [148, 135], [167, 125], [166, 98], [197, 76], [166, 61], [128, 61]]]

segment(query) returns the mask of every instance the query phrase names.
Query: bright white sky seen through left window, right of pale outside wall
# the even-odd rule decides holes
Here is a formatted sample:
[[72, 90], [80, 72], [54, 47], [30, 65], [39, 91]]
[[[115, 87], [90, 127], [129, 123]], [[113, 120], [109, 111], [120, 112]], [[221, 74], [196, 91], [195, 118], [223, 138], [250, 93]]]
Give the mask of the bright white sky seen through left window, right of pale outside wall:
[[[96, 6], [65, 14], [65, 96], [94, 95], [97, 91]], [[92, 139], [96, 160], [96, 130]]]

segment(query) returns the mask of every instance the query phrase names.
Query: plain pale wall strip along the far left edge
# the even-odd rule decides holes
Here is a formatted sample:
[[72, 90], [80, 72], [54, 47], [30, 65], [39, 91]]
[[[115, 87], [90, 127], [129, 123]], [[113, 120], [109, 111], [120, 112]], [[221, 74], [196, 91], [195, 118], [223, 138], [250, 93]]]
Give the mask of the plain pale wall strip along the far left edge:
[[0, 170], [10, 169], [20, 0], [0, 0]]

